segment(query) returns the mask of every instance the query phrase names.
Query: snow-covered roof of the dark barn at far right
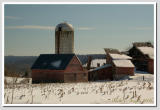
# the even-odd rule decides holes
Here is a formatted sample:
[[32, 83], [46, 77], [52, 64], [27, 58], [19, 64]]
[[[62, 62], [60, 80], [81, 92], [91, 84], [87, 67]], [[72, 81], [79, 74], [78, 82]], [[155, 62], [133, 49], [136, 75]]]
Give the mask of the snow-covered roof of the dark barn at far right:
[[137, 47], [144, 55], [148, 55], [149, 58], [154, 59], [154, 48], [152, 47]]

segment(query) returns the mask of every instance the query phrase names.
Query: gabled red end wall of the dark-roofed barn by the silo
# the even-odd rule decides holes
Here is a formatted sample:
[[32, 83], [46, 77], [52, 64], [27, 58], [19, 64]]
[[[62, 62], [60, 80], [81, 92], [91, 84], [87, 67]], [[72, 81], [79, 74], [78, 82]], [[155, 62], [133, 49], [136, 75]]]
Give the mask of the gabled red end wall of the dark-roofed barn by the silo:
[[64, 72], [64, 82], [86, 82], [88, 73], [83, 69], [76, 56], [73, 57]]

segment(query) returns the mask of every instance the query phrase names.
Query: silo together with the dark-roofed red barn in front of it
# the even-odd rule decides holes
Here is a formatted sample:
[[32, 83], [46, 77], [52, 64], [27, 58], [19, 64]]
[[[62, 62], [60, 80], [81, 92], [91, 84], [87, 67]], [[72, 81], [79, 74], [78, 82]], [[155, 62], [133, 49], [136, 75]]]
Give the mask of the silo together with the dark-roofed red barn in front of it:
[[55, 28], [55, 53], [41, 54], [33, 64], [32, 82], [85, 82], [88, 72], [74, 54], [74, 29], [60, 23]]

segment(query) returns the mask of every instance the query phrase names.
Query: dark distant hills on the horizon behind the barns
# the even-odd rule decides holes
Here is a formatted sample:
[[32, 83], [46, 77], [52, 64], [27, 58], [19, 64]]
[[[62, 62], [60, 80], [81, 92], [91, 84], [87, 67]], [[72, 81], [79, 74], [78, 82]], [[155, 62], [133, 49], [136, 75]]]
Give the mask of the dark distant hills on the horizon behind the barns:
[[[86, 63], [88, 56], [92, 56], [93, 59], [105, 59], [105, 54], [87, 54], [77, 55], [82, 64]], [[24, 74], [25, 72], [31, 72], [30, 68], [35, 62], [38, 56], [5, 56], [4, 63], [5, 69], [9, 73]]]

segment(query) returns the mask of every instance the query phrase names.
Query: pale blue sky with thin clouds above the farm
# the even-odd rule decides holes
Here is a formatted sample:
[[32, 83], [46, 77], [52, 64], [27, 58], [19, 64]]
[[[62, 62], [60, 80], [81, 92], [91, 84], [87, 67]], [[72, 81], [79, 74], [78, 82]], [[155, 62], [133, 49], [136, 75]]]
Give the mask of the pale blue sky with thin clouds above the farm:
[[55, 52], [57, 24], [74, 27], [75, 53], [121, 51], [133, 42], [154, 41], [154, 10], [149, 4], [5, 5], [5, 55]]

